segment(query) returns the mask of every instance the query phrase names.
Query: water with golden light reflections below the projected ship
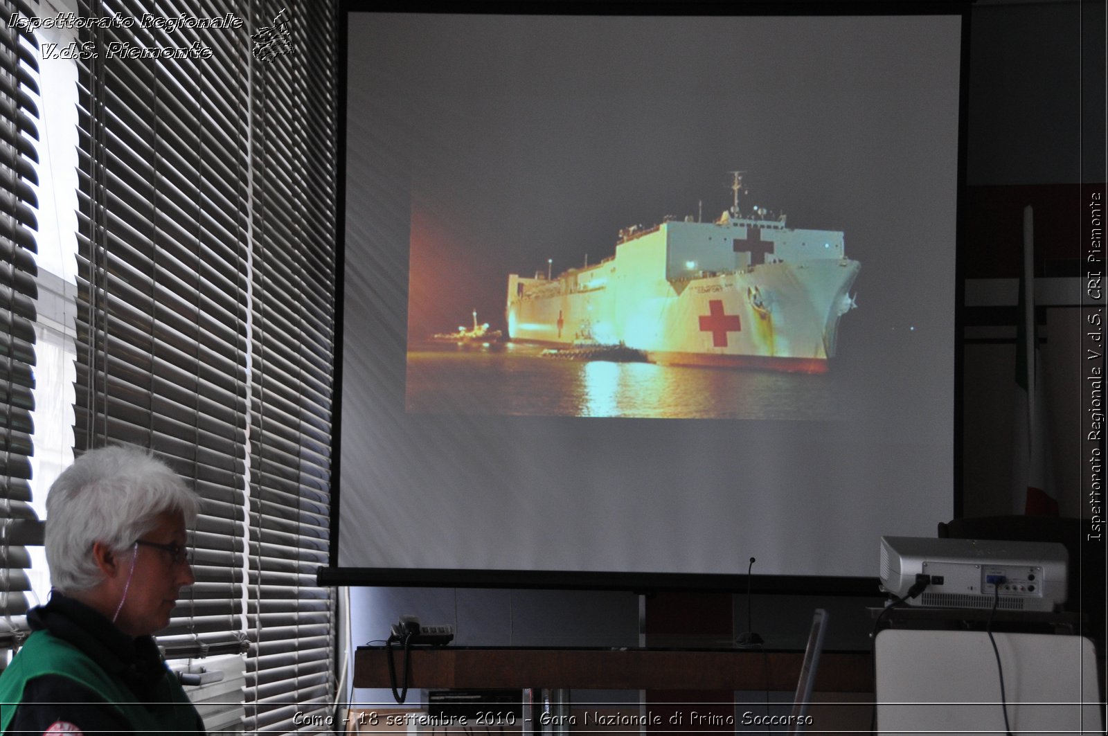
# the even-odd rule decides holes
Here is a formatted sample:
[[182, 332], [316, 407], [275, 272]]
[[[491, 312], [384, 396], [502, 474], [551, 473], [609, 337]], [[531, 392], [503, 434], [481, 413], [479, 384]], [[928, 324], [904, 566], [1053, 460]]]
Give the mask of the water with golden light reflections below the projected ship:
[[779, 374], [544, 358], [532, 347], [408, 352], [412, 413], [833, 419], [833, 372]]

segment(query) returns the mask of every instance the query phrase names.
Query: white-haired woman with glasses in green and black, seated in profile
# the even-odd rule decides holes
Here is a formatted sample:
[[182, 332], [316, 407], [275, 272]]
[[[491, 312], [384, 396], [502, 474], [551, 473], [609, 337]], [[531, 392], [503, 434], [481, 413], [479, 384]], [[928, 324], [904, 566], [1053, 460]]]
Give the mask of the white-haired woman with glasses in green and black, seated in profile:
[[[133, 447], [90, 450], [47, 497], [50, 601], [0, 675], [0, 733], [203, 733], [151, 635], [194, 582], [196, 494]], [[18, 704], [12, 707], [11, 704]]]

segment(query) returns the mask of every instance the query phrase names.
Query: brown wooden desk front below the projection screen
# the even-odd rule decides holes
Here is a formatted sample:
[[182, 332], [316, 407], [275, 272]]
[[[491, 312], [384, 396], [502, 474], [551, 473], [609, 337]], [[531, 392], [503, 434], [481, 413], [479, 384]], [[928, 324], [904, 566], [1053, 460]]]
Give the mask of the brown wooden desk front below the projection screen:
[[[403, 652], [393, 652], [402, 677]], [[388, 653], [359, 647], [355, 687], [390, 687]], [[410, 685], [418, 688], [573, 688], [658, 691], [793, 691], [802, 652], [757, 650], [564, 650], [413, 647]], [[872, 693], [869, 652], [824, 652], [815, 689]]]

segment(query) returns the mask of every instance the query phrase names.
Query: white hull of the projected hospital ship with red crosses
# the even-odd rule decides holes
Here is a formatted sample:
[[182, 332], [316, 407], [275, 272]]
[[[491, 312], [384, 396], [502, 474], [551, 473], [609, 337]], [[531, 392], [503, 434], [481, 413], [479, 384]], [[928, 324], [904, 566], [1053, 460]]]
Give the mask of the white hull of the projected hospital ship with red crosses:
[[[730, 243], [704, 227], [714, 226], [661, 226], [620, 244], [613, 258], [557, 279], [511, 276], [510, 339], [554, 347], [624, 345], [666, 365], [825, 372], [860, 270], [858, 262], [842, 256], [841, 233], [832, 234], [840, 238], [837, 247], [828, 246], [832, 257], [771, 254], [767, 263], [751, 265], [746, 254], [736, 257], [728, 247], [719, 258], [737, 258], [743, 267], [705, 274], [688, 254], [708, 259], [715, 252], [700, 241], [717, 249]], [[791, 253], [792, 233], [776, 234], [781, 252]], [[807, 233], [808, 239], [824, 234]]]

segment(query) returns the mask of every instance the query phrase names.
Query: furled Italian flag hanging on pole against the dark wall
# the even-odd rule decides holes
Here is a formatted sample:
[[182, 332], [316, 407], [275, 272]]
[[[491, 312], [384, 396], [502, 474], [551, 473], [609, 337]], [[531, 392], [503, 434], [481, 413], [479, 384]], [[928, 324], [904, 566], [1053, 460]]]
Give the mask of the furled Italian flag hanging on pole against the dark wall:
[[1016, 400], [1013, 426], [1013, 500], [1016, 513], [1058, 515], [1049, 472], [1049, 431], [1043, 368], [1035, 335], [1035, 260], [1032, 208], [1024, 207], [1024, 267], [1016, 316]]

